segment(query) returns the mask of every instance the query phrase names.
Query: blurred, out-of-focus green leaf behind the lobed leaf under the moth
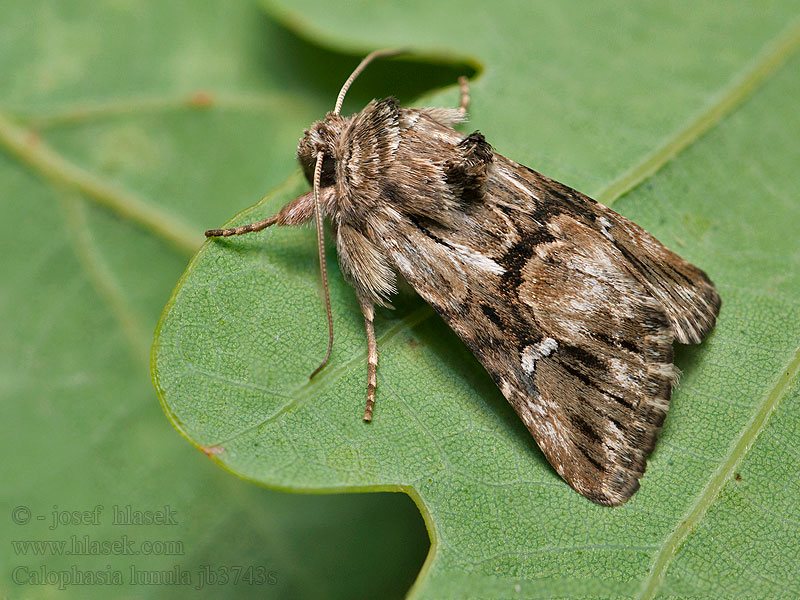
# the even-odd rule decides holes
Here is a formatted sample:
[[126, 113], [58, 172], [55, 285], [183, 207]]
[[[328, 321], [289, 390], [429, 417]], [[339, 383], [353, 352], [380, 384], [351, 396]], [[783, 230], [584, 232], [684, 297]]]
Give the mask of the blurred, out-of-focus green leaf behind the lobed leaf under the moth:
[[[297, 497], [231, 477], [175, 434], [149, 376], [152, 332], [202, 231], [285, 180], [302, 127], [356, 59], [250, 2], [0, 6], [0, 597], [402, 596], [428, 547], [411, 500]], [[406, 98], [455, 76], [416, 66]], [[97, 505], [99, 524], [49, 529], [55, 506], [71, 518]], [[176, 524], [115, 525], [114, 505], [166, 505]], [[12, 520], [18, 506], [29, 522]], [[73, 536], [179, 547], [12, 544], [69, 551]], [[203, 565], [277, 582], [195, 590]], [[132, 567], [176, 566], [190, 585], [130, 585]], [[47, 583], [73, 568], [119, 571], [123, 585]]]

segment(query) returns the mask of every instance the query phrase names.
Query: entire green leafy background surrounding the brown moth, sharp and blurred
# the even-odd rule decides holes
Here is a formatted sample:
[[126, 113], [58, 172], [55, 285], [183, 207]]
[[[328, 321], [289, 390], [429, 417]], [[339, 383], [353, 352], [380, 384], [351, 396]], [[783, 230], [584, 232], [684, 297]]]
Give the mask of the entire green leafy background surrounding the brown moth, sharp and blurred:
[[[800, 22], [791, 2], [6, 2], [0, 23], [0, 593], [40, 597], [791, 597], [798, 587]], [[612, 203], [708, 271], [717, 329], [684, 374], [642, 490], [592, 505], [550, 469], [413, 294], [363, 324], [311, 229], [206, 244], [307, 189], [304, 127], [358, 57], [371, 97], [457, 103], [495, 148]], [[433, 91], [439, 90], [436, 93]], [[421, 95], [425, 99], [420, 99]], [[99, 525], [49, 531], [59, 510]], [[175, 525], [114, 525], [114, 505]], [[14, 507], [31, 510], [16, 523]], [[181, 555], [34, 556], [12, 541], [178, 540]], [[21, 585], [38, 573], [261, 566], [274, 585]], [[16, 581], [15, 581], [16, 577]]]

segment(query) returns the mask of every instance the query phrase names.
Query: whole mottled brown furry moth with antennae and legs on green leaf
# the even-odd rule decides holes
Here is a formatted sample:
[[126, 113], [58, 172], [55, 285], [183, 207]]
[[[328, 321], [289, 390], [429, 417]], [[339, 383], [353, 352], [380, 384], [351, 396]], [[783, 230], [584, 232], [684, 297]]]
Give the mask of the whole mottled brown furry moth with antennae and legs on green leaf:
[[[206, 232], [239, 235], [314, 219], [328, 317], [323, 217], [355, 288], [367, 338], [367, 405], [375, 404], [374, 307], [397, 275], [447, 322], [492, 376], [561, 477], [593, 502], [639, 488], [677, 381], [673, 342], [697, 344], [720, 297], [706, 274], [613, 210], [464, 135], [458, 108], [373, 100], [335, 108], [305, 131], [297, 158], [312, 190], [263, 221]], [[313, 377], [313, 374], [312, 374]]]

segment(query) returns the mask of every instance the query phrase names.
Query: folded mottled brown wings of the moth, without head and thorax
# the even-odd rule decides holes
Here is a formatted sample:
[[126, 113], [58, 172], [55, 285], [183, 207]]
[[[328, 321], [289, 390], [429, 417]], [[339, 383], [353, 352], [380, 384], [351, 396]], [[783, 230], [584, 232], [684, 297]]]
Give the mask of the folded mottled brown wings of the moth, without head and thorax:
[[[681, 310], [713, 324], [718, 297], [701, 271], [623, 217], [564, 186], [554, 196], [554, 182], [534, 185], [499, 155], [494, 163], [463, 222], [401, 216], [384, 250], [492, 375], [556, 471], [594, 502], [621, 504], [639, 487], [669, 406]], [[646, 243], [632, 248], [620, 232]]]

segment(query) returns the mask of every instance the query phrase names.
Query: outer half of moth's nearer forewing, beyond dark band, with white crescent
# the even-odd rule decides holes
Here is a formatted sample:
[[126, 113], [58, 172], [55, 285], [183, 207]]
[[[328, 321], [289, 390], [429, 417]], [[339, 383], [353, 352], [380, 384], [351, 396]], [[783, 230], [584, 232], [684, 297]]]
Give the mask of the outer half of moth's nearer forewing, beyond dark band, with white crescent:
[[[517, 302], [509, 290], [507, 302], [543, 336], [509, 349], [519, 368], [498, 385], [558, 473], [615, 505], [638, 489], [666, 416], [673, 335], [658, 302], [604, 248], [587, 256], [583, 244], [596, 244], [596, 234], [581, 233], [540, 245], [523, 267]], [[526, 378], [538, 396], [518, 385]]]

